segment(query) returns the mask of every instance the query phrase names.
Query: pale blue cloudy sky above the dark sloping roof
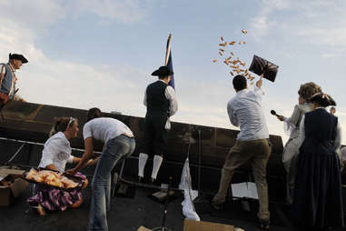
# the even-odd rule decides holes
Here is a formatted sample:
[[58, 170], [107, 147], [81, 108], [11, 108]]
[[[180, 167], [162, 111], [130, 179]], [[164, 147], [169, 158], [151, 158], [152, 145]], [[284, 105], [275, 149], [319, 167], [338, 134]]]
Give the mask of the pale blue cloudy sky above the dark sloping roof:
[[144, 116], [143, 92], [172, 33], [173, 121], [234, 129], [226, 112], [232, 78], [212, 62], [223, 36], [246, 41], [233, 51], [247, 66], [253, 55], [280, 66], [275, 83], [263, 84], [271, 134], [287, 139], [269, 112], [291, 116], [299, 86], [310, 81], [334, 97], [346, 131], [345, 1], [2, 0], [0, 7], [0, 58], [28, 58], [18, 73], [27, 101]]

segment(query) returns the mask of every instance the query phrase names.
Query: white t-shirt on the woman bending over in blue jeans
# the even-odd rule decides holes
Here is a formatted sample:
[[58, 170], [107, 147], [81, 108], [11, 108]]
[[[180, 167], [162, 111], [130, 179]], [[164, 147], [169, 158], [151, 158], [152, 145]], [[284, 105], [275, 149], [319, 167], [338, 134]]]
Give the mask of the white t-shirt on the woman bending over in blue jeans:
[[109, 117], [94, 118], [83, 127], [84, 139], [93, 136], [104, 144], [123, 133], [133, 136], [133, 132], [123, 122]]

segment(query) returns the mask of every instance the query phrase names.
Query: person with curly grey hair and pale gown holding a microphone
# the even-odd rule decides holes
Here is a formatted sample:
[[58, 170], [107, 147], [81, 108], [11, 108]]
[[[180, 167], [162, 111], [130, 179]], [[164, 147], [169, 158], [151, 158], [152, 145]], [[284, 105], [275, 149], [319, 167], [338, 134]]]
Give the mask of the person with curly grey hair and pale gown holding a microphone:
[[295, 160], [299, 152], [298, 148], [301, 146], [299, 125], [302, 116], [312, 110], [311, 96], [318, 92], [321, 92], [321, 86], [313, 82], [301, 85], [298, 91], [299, 104], [294, 106], [292, 116], [289, 118], [278, 116], [278, 119], [284, 122], [285, 132], [290, 135], [282, 154], [282, 164], [286, 170], [286, 200], [290, 205], [292, 205], [293, 200]]

